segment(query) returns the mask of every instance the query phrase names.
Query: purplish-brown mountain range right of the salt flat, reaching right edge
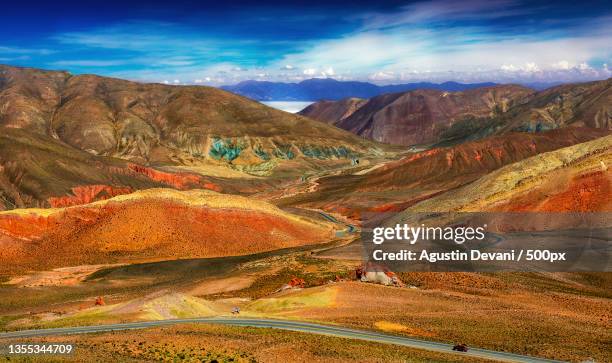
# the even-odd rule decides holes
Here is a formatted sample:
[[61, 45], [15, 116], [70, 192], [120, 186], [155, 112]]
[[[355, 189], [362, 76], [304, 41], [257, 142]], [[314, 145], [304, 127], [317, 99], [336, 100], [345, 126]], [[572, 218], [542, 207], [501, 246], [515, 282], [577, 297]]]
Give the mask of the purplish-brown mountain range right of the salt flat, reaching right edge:
[[539, 92], [518, 85], [459, 92], [414, 90], [370, 99], [319, 101], [299, 113], [368, 139], [408, 146], [569, 125], [610, 130], [610, 105], [612, 79]]

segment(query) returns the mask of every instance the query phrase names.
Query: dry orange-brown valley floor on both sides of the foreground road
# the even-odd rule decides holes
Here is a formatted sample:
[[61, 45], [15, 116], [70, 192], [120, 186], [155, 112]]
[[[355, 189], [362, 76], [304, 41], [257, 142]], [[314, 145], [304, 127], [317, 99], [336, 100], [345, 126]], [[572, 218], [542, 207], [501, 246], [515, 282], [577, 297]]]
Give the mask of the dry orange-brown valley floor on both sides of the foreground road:
[[[230, 264], [225, 272], [215, 269], [209, 276], [205, 276], [206, 268], [200, 267], [202, 278], [194, 278], [196, 270], [193, 269], [185, 275], [178, 263], [160, 262], [141, 268], [136, 265], [131, 269], [127, 266], [108, 267], [94, 274], [93, 278], [70, 287], [4, 284], [3, 296], [9, 299], [0, 302], [4, 311], [3, 329], [231, 316], [231, 310], [240, 307], [242, 318], [332, 323], [550, 359], [578, 361], [591, 357], [599, 361], [609, 356], [606, 342], [612, 338], [608, 329], [612, 303], [607, 286], [612, 274], [405, 273], [400, 276], [409, 287], [398, 288], [353, 281], [351, 274], [358, 265], [357, 261], [321, 259], [313, 252], [274, 253], [263, 258], [228, 261]], [[214, 265], [219, 265], [219, 261], [209, 260], [208, 264], [205, 261], [202, 260], [201, 266], [211, 267], [214, 262]], [[165, 271], [164, 274], [171, 278], [167, 282], [154, 282], [147, 276], [150, 270]], [[305, 288], [278, 291], [293, 277], [303, 278]], [[77, 292], [80, 295], [75, 295]], [[97, 295], [104, 296], [104, 306], [94, 306]], [[46, 299], [55, 303], [43, 305], [35, 302]], [[8, 311], [13, 313], [7, 314]], [[17, 311], [21, 313], [14, 314]], [[272, 341], [285, 337], [284, 343], [279, 342], [281, 346], [302, 341], [300, 344], [306, 344], [304, 350], [285, 351], [287, 357], [297, 354], [293, 357], [298, 360], [316, 354], [312, 351], [316, 345], [309, 348], [306, 342], [326, 339], [251, 328], [193, 326], [184, 330], [178, 327], [154, 329], [143, 334], [163, 335], [163, 331], [170, 330], [180, 331], [177, 334], [186, 341], [201, 336], [204, 334], [202, 331], [207, 332], [204, 342], [218, 341], [227, 335], [227, 338], [236, 339], [237, 345], [245, 344], [240, 349], [230, 349], [231, 354], [253, 354], [259, 359], [263, 353], [248, 348], [252, 344], [249, 342], [257, 341], [254, 337], [246, 338], [253, 331], [257, 332], [255, 336], [264, 334]], [[159, 344], [147, 344], [143, 348], [139, 342], [121, 342], [120, 337], [126, 334], [105, 333], [74, 339], [78, 344], [84, 344], [83, 354], [91, 354], [91, 357], [111, 348], [113, 354], [126, 359], [157, 354], [153, 352], [161, 349]], [[161, 341], [167, 342], [164, 349], [171, 351], [161, 349], [159, 354], [181, 354], [183, 349], [187, 349], [187, 344], [181, 345], [169, 336]], [[342, 357], [348, 359], [357, 354], [351, 347], [361, 346], [361, 343], [340, 341], [327, 341], [321, 349], [329, 353], [319, 354], [336, 352], [335, 358], [343, 360]], [[94, 342], [101, 344], [98, 346], [103, 349], [94, 350]], [[174, 347], [170, 348], [172, 344]], [[220, 347], [205, 343], [200, 346], [207, 347], [204, 349], [206, 352], [219, 352]], [[381, 349], [386, 348], [367, 343], [358, 351], [364, 354], [361, 359], [367, 361], [376, 360], [373, 352], [383, 354]], [[451, 359], [399, 348], [392, 351], [381, 357], [415, 361]]]

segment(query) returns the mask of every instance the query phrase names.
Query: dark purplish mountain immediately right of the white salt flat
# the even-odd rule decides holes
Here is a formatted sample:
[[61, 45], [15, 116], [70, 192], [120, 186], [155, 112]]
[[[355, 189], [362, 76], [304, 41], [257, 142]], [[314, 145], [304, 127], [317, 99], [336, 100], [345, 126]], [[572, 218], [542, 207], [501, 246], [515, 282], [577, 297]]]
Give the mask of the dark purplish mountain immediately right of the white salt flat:
[[[301, 115], [319, 119], [380, 142], [413, 145], [439, 141], [457, 122], [479, 120], [507, 112], [533, 94], [529, 88], [503, 85], [462, 92], [416, 90], [389, 93], [360, 102], [317, 102]], [[339, 115], [340, 117], [334, 117]]]

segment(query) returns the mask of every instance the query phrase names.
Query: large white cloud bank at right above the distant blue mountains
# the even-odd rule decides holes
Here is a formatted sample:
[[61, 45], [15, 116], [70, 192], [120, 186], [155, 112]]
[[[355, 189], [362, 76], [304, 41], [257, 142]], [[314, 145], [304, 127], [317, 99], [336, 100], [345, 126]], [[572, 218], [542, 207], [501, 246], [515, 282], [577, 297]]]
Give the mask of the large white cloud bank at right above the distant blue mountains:
[[[301, 53], [287, 55], [281, 62], [304, 68], [308, 76], [321, 74], [317, 69], [333, 67], [352, 70], [353, 77], [365, 78], [364, 75], [372, 75], [373, 69], [395, 74], [394, 79], [384, 77], [386, 81], [427, 80], [423, 74], [427, 71], [452, 72], [454, 80], [467, 81], [478, 72], [490, 77], [488, 81], [504, 81], [509, 73], [517, 77], [524, 73], [541, 78], [562, 76], [558, 80], [571, 81], [603, 78], [576, 73], [573, 65], [610, 59], [609, 44], [612, 29], [564, 38], [480, 36], [476, 40], [462, 29], [452, 33], [418, 28], [368, 30], [319, 42]], [[334, 72], [334, 77], [341, 76], [346, 74]]]

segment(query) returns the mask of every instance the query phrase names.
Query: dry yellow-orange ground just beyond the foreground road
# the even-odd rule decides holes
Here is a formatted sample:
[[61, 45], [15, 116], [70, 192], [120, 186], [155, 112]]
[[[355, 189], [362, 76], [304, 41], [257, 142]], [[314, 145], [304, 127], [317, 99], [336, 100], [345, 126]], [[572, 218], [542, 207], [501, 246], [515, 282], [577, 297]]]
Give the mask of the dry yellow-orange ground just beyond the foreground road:
[[[21, 315], [6, 327], [219, 316], [240, 306], [243, 317], [332, 323], [552, 359], [601, 361], [611, 353], [607, 286], [612, 274], [402, 273], [409, 287], [395, 288], [352, 281], [355, 266], [310, 253], [281, 254], [246, 261], [203, 280], [159, 285], [133, 297], [129, 292], [110, 296], [102, 307], [93, 307], [92, 296], [85, 305], [56, 306], [62, 314]], [[336, 275], [346, 281], [330, 282]], [[126, 281], [112, 276], [101, 277], [106, 286]], [[146, 280], [144, 271], [129, 276], [131, 283]], [[292, 277], [303, 278], [306, 288], [277, 292]], [[92, 283], [76, 288], [86, 290]], [[34, 289], [20, 291], [30, 294]]]

